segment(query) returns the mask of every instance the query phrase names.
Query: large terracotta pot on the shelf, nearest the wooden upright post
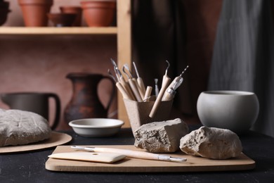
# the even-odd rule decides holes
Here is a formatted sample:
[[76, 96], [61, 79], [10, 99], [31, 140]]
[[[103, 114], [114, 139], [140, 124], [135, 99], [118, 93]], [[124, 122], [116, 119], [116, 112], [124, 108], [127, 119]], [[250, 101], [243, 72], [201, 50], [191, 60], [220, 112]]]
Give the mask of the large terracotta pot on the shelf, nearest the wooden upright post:
[[84, 19], [89, 27], [107, 27], [115, 15], [115, 1], [81, 1]]

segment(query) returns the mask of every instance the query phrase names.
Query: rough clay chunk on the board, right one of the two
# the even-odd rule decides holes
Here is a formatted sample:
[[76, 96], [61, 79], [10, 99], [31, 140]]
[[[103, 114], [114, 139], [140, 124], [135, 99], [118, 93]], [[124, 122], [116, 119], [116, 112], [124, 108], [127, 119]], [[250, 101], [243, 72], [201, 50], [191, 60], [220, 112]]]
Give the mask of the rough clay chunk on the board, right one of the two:
[[215, 127], [200, 127], [181, 138], [180, 149], [192, 156], [211, 159], [237, 157], [242, 143], [234, 132]]

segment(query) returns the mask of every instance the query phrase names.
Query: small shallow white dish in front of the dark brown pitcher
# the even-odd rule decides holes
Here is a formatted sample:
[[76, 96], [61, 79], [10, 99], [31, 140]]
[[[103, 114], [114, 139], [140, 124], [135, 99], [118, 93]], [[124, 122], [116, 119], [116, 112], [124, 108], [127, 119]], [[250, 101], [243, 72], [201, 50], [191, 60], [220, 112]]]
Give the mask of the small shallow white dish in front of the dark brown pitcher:
[[84, 137], [108, 137], [119, 132], [124, 122], [109, 118], [88, 118], [69, 122], [74, 132]]

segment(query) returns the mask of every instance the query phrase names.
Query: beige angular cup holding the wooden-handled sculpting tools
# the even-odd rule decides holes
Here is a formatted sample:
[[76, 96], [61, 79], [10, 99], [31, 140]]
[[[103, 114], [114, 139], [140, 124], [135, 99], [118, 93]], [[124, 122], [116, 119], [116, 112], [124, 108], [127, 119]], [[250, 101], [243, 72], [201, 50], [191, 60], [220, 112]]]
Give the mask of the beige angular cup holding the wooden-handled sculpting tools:
[[138, 127], [149, 122], [169, 120], [173, 100], [161, 101], [154, 118], [150, 118], [150, 111], [155, 101], [138, 102], [124, 99], [126, 112], [129, 116], [131, 130], [134, 133]]

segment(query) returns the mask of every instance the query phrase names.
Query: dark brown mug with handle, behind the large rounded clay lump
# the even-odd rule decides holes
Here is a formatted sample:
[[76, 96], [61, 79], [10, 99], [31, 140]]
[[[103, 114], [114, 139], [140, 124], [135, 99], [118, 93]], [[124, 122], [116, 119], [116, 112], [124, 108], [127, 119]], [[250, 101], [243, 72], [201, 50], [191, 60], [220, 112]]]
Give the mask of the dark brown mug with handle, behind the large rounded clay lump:
[[60, 99], [53, 93], [21, 92], [1, 94], [1, 100], [11, 109], [31, 111], [37, 113], [48, 120], [48, 102], [53, 98], [56, 103], [56, 113], [53, 122], [50, 122], [51, 129], [58, 126], [60, 120]]

